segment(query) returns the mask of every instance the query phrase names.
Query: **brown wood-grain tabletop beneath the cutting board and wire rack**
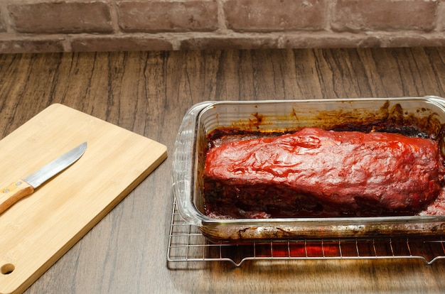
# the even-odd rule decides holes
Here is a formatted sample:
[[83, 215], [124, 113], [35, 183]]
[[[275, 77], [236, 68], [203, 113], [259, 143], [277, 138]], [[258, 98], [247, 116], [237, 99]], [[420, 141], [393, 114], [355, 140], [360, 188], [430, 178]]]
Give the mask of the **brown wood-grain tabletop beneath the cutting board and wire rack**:
[[165, 144], [169, 157], [26, 293], [440, 293], [445, 261], [168, 268], [171, 163], [204, 100], [445, 97], [445, 48], [0, 55], [0, 138], [61, 103]]

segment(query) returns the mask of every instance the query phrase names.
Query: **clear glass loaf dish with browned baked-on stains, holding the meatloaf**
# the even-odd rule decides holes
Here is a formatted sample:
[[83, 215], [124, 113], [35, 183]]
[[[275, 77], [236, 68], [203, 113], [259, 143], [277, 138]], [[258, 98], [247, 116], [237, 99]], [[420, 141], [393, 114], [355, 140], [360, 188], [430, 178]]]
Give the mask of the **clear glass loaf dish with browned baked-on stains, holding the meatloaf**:
[[291, 131], [390, 121], [414, 124], [436, 138], [445, 157], [445, 99], [399, 97], [201, 102], [183, 117], [173, 152], [173, 194], [181, 217], [213, 241], [428, 236], [445, 232], [445, 216], [213, 219], [203, 214], [203, 163], [215, 129]]

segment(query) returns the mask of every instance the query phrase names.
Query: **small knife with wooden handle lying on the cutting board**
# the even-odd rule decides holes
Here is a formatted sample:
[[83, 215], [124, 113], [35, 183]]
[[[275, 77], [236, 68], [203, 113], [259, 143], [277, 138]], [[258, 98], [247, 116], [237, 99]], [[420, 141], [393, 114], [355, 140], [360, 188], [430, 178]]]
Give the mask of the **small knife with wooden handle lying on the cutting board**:
[[8, 187], [1, 189], [0, 214], [6, 209], [9, 209], [9, 207], [18, 202], [18, 200], [31, 195], [37, 187], [75, 163], [82, 157], [86, 149], [87, 142], [84, 142], [62, 156], [55, 158], [55, 160], [36, 170], [36, 172], [31, 173], [31, 175], [28, 175], [26, 178], [18, 179]]

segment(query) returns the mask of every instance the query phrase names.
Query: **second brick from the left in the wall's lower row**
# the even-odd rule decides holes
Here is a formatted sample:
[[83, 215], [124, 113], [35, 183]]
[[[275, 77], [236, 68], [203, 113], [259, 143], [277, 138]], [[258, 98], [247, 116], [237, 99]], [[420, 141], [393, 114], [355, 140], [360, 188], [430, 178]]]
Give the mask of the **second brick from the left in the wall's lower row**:
[[73, 37], [71, 50], [74, 52], [87, 51], [160, 51], [173, 50], [168, 40], [160, 38], [138, 38], [133, 36], [94, 36], [94, 37]]

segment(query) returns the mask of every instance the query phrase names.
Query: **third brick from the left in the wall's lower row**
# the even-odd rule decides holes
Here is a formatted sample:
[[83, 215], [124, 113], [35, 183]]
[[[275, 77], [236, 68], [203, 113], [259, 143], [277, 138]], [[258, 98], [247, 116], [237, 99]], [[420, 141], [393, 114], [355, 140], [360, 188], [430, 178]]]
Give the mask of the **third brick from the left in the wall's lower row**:
[[227, 37], [213, 36], [189, 38], [181, 42], [181, 50], [226, 50], [226, 49], [274, 49], [278, 48], [278, 37]]

